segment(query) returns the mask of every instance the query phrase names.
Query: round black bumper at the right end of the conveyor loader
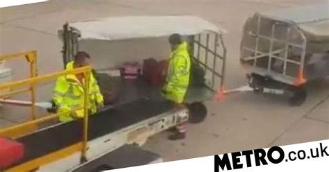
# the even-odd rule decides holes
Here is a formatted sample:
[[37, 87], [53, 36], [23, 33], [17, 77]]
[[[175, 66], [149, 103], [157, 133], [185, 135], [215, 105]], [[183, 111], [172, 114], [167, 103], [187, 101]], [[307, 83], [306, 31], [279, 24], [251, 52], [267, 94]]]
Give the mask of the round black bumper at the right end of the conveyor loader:
[[187, 105], [189, 110], [189, 123], [201, 123], [207, 117], [207, 107], [201, 102], [194, 102]]

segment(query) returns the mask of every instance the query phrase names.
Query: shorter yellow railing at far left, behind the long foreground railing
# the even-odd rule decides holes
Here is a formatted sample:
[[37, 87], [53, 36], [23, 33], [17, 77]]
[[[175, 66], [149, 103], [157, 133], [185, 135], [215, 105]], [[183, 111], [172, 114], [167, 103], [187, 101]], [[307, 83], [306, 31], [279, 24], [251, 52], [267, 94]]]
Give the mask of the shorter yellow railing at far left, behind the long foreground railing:
[[[37, 51], [25, 51], [21, 53], [15, 53], [10, 55], [0, 55], [0, 61], [12, 60], [14, 58], [26, 58], [28, 63], [30, 63], [30, 77], [33, 78], [37, 76]], [[6, 98], [10, 95], [19, 94], [22, 92], [31, 91], [31, 111], [32, 111], [32, 119], [36, 119], [36, 108], [35, 108], [35, 85], [32, 83], [30, 87], [26, 89], [19, 89], [15, 92], [11, 92], [10, 94], [1, 94], [0, 98]]]

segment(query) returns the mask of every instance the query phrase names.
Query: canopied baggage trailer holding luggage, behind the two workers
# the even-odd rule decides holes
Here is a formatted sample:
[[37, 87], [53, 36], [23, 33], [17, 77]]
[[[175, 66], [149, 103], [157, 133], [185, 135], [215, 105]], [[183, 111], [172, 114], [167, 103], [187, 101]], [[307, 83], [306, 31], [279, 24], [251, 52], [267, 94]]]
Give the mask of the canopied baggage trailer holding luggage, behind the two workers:
[[[159, 54], [165, 57], [161, 60], [168, 60], [169, 43], [167, 37], [173, 33], [183, 35], [184, 40], [189, 43], [189, 55], [192, 62], [198, 64], [205, 71], [204, 87], [190, 88], [187, 92], [187, 98], [185, 98], [186, 103], [212, 98], [214, 93], [223, 87], [226, 62], [223, 35], [226, 34], [226, 30], [200, 17], [185, 15], [124, 16], [88, 19], [68, 22], [59, 31], [59, 36], [63, 42], [64, 66], [73, 60], [76, 52], [87, 51], [91, 54], [92, 60], [96, 64], [93, 67], [98, 73], [106, 65], [115, 64], [117, 59], [121, 60], [120, 62], [123, 58], [124, 60], [137, 59], [142, 62], [145, 58], [149, 58], [145, 56], [144, 59], [141, 58], [145, 52], [147, 55]], [[152, 39], [162, 40], [153, 42]], [[133, 42], [134, 40], [137, 42]], [[119, 45], [116, 44], [117, 42]], [[145, 48], [141, 44], [147, 44], [147, 47]], [[113, 46], [116, 48], [114, 49]], [[127, 55], [129, 53], [131, 57]], [[98, 62], [96, 62], [97, 60]], [[160, 93], [160, 88], [148, 87], [143, 83], [137, 82], [137, 85], [132, 85], [131, 82], [130, 85], [127, 85], [126, 82], [123, 83], [125, 85], [121, 86], [121, 89], [129, 87], [129, 90], [123, 92], [130, 92], [129, 95], [125, 95], [128, 97], [125, 99], [134, 97], [134, 94], [131, 93], [133, 89], [137, 92], [150, 92], [149, 90], [152, 90], [151, 94]], [[103, 85], [100, 87], [102, 88]], [[124, 96], [121, 95], [121, 97]], [[150, 97], [158, 99], [159, 95]]]

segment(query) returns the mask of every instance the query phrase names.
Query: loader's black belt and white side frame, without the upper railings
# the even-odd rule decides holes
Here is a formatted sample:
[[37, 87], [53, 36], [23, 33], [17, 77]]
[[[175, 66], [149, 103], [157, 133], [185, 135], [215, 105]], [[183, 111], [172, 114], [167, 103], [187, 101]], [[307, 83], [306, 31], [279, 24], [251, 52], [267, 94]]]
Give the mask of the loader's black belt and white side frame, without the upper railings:
[[[188, 110], [185, 108], [178, 109], [168, 102], [148, 100], [126, 103], [92, 115], [88, 122], [86, 154], [87, 160], [91, 161], [81, 164], [74, 171], [84, 171], [83, 168], [88, 169], [89, 166], [97, 169], [106, 165], [114, 169], [161, 162], [159, 155], [132, 145], [142, 144], [151, 135], [167, 130], [187, 119]], [[24, 157], [15, 164], [1, 168], [1, 171], [31, 171], [38, 168], [47, 170], [51, 169], [51, 166], [56, 166], [56, 169], [60, 171], [67, 171], [77, 166], [80, 164], [82, 129], [83, 119], [80, 119], [59, 123], [18, 137], [16, 141], [24, 145]], [[113, 152], [114, 155], [113, 150], [117, 151], [117, 153]], [[142, 154], [144, 160], [125, 164], [126, 160], [122, 159], [124, 158], [122, 151], [130, 153], [131, 156], [133, 153]], [[107, 161], [107, 158], [109, 161], [118, 160], [119, 157], [116, 156], [121, 156], [121, 161], [119, 161], [121, 164], [115, 164], [116, 162], [111, 164]], [[100, 160], [101, 164], [97, 160]], [[108, 164], [104, 164], [106, 162]]]

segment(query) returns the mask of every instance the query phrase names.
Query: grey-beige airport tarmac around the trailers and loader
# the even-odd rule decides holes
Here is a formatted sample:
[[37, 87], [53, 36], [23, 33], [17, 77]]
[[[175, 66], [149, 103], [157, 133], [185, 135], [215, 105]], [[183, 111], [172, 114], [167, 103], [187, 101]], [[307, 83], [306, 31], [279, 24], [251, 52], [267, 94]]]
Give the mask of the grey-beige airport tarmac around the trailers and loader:
[[[62, 69], [62, 44], [57, 31], [67, 21], [124, 15], [197, 15], [228, 30], [224, 36], [228, 49], [226, 87], [234, 88], [246, 83], [239, 65], [239, 42], [242, 26], [253, 12], [321, 2], [328, 3], [327, 0], [53, 0], [1, 8], [0, 54], [37, 50], [38, 71], [42, 75]], [[127, 42], [128, 46], [124, 46]], [[144, 55], [140, 50], [137, 52], [137, 42], [127, 42], [121, 42], [121, 46], [115, 44], [117, 53]], [[153, 48], [147, 47], [146, 55], [152, 55]], [[167, 47], [154, 49], [167, 52]], [[15, 72], [15, 80], [28, 74], [28, 66], [22, 64], [27, 63], [8, 62]], [[37, 100], [49, 101], [52, 87], [53, 83], [38, 87]], [[307, 92], [307, 100], [301, 107], [289, 107], [283, 98], [252, 92], [232, 94], [221, 102], [208, 101], [208, 118], [189, 126], [186, 139], [169, 141], [169, 133], [163, 132], [149, 139], [144, 148], [171, 161], [329, 139], [329, 80], [307, 84]], [[28, 95], [15, 98], [28, 100]], [[0, 108], [0, 128], [29, 119], [29, 114], [22, 113], [28, 110], [26, 107]]]

